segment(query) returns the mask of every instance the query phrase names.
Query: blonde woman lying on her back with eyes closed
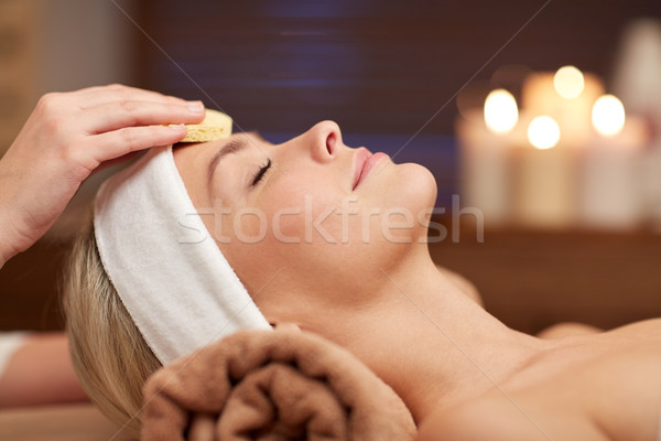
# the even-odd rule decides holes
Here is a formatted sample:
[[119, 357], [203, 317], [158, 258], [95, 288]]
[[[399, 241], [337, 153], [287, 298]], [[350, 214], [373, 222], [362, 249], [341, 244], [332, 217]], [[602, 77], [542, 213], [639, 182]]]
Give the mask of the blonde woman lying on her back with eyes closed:
[[[219, 154], [230, 141], [232, 153]], [[268, 322], [356, 354], [402, 397], [421, 440], [657, 439], [659, 320], [550, 341], [508, 329], [440, 273], [420, 240], [435, 197], [424, 169], [349, 149], [327, 121], [280, 146], [243, 133], [180, 147], [174, 161]], [[88, 235], [74, 260], [72, 280], [94, 294], [69, 287], [74, 355], [97, 401], [132, 412], [159, 359], [94, 247]]]

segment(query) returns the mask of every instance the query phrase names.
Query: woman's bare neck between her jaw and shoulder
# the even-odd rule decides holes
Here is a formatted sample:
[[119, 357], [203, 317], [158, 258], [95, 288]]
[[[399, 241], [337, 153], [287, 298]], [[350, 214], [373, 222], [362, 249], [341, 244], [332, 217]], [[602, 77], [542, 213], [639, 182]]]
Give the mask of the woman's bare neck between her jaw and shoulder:
[[544, 347], [459, 291], [426, 248], [379, 272], [377, 313], [356, 313], [351, 327], [361, 337], [354, 333], [346, 346], [402, 397], [418, 422], [501, 384]]

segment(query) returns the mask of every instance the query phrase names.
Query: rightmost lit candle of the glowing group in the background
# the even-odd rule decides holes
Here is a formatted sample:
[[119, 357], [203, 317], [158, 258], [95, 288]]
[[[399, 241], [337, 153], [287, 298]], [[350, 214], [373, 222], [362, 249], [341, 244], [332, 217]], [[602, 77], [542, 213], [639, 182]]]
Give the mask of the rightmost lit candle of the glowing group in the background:
[[581, 217], [598, 228], [630, 228], [643, 217], [642, 147], [647, 128], [605, 95], [593, 109], [595, 133], [583, 166]]

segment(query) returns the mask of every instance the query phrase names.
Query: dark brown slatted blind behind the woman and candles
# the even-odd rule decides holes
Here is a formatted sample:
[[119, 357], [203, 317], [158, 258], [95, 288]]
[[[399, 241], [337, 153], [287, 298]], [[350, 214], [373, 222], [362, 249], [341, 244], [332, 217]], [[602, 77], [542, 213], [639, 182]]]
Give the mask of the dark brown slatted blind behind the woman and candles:
[[213, 99], [241, 129], [453, 135], [456, 94], [503, 65], [608, 79], [625, 25], [661, 2], [148, 0], [136, 14], [140, 84]]

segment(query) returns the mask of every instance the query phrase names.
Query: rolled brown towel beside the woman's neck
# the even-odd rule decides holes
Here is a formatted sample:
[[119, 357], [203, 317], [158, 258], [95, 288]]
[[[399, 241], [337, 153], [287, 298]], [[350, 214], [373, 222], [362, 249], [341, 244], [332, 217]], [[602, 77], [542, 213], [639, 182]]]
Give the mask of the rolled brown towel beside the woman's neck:
[[367, 366], [305, 332], [246, 331], [158, 370], [142, 439], [412, 440], [411, 413]]

